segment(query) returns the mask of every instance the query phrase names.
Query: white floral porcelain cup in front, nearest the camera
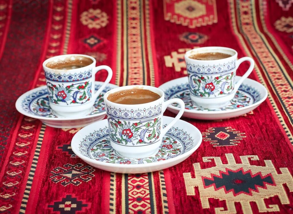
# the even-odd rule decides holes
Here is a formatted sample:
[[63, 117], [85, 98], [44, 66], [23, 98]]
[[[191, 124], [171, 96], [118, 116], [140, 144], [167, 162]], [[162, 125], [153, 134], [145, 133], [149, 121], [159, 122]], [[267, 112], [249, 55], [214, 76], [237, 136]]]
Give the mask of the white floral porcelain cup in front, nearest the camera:
[[[135, 105], [117, 104], [108, 100], [109, 94], [137, 88], [155, 92], [160, 95], [160, 98]], [[144, 158], [159, 150], [163, 136], [180, 119], [185, 108], [182, 100], [174, 98], [164, 102], [164, 97], [162, 90], [147, 85], [129, 85], [105, 93], [104, 101], [111, 146], [121, 156]], [[163, 113], [172, 103], [178, 103], [180, 111], [172, 122], [163, 128]]]

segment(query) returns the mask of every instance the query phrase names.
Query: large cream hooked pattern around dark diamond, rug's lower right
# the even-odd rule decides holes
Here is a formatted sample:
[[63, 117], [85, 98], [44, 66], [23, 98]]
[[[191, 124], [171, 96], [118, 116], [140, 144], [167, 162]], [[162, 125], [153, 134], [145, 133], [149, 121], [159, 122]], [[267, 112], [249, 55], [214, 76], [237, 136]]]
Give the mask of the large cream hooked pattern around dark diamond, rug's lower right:
[[[186, 193], [188, 196], [195, 195], [195, 187], [198, 188], [202, 208], [210, 208], [209, 198], [216, 198], [226, 201], [227, 210], [223, 207], [215, 208], [215, 213], [234, 214], [236, 213], [235, 202], [240, 202], [244, 214], [253, 213], [250, 202], [255, 202], [258, 206], [259, 212], [278, 212], [280, 211], [277, 204], [266, 205], [264, 199], [273, 196], [278, 196], [281, 204], [289, 204], [289, 198], [286, 194], [283, 184], [287, 184], [289, 191], [293, 191], [293, 178], [288, 168], [280, 168], [281, 174], [278, 174], [275, 166], [270, 160], [264, 160], [265, 166], [251, 165], [249, 161], [258, 161], [256, 155], [240, 156], [241, 162], [237, 164], [233, 154], [225, 154], [228, 164], [223, 164], [220, 157], [203, 157], [203, 162], [212, 162], [214, 160], [216, 166], [202, 169], [200, 163], [193, 164], [195, 178], [191, 177], [191, 173], [183, 173]], [[225, 193], [224, 189], [215, 190], [214, 186], [205, 188], [202, 177], [211, 178], [211, 174], [220, 176], [220, 171], [237, 170], [243, 168], [243, 171], [251, 170], [253, 174], [261, 172], [262, 176], [271, 174], [276, 186], [266, 185], [265, 188], [258, 188], [258, 192], [253, 191], [252, 195], [239, 194], [234, 196], [232, 192]]]

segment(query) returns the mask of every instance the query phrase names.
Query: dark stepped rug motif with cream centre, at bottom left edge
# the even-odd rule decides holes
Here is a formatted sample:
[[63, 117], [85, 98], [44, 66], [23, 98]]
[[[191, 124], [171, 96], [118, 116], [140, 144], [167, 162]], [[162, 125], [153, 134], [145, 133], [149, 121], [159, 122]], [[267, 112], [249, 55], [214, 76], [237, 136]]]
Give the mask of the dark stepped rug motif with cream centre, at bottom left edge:
[[91, 207], [91, 203], [83, 202], [85, 201], [77, 200], [77, 198], [72, 198], [71, 195], [67, 195], [61, 201], [55, 201], [54, 204], [48, 205], [48, 208], [52, 208], [53, 212], [59, 212], [60, 214], [76, 213], [76, 211], [85, 211]]

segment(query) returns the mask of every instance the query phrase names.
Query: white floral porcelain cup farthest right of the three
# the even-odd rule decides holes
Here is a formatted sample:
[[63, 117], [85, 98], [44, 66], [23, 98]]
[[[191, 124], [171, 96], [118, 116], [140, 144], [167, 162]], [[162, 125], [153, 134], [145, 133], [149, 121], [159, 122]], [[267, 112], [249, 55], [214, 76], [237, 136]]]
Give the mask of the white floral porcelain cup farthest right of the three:
[[[231, 55], [219, 60], [195, 60], [189, 58], [197, 53], [225, 53]], [[252, 72], [254, 61], [250, 57], [237, 60], [237, 51], [225, 47], [202, 47], [189, 50], [184, 55], [190, 98], [195, 105], [202, 108], [222, 108], [233, 99], [239, 86]], [[250, 66], [238, 82], [235, 81], [239, 65], [249, 61]]]

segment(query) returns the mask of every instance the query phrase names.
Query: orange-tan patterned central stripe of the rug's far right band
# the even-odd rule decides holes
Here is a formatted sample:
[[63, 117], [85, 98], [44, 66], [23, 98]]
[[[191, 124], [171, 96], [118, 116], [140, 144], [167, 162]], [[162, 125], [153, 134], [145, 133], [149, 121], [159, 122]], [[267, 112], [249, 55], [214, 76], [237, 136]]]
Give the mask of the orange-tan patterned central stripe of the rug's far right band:
[[[272, 89], [275, 91], [280, 104], [283, 106], [284, 113], [287, 114], [289, 122], [293, 126], [293, 107], [291, 106], [293, 100], [292, 98], [291, 100], [287, 98], [290, 94], [293, 94], [293, 82], [282, 62], [258, 29], [258, 23], [255, 19], [254, 1], [238, 1], [237, 3], [239, 4], [237, 10], [239, 10], [238, 18], [240, 27], [248, 39], [248, 43], [252, 50], [255, 51], [257, 55], [256, 59], [258, 59], [259, 63], [265, 68], [264, 71], [267, 73], [267, 79], [271, 82]], [[243, 14], [243, 11], [246, 11], [246, 14]], [[245, 25], [244, 23], [246, 22], [251, 22], [253, 25]]]

